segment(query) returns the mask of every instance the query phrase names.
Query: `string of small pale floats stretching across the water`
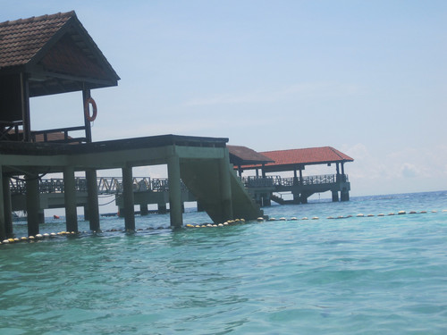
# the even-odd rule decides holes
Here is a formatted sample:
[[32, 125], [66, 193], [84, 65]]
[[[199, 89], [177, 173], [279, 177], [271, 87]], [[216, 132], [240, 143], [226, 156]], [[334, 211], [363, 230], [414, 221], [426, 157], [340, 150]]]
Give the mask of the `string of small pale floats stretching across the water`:
[[[443, 213], [447, 213], [447, 209], [444, 209], [442, 211]], [[380, 213], [380, 214], [357, 214], [357, 215], [346, 215], [346, 216], [328, 216], [326, 217], [327, 220], [336, 220], [336, 219], [348, 219], [348, 218], [369, 218], [374, 216], [384, 217], [384, 216], [393, 216], [393, 215], [405, 215], [405, 214], [427, 214], [427, 213], [438, 213], [438, 211], [399, 211], [397, 213]], [[268, 216], [260, 216], [257, 218], [257, 220], [246, 222], [244, 219], [236, 219], [236, 220], [229, 220], [223, 223], [202, 223], [202, 224], [186, 224], [184, 228], [186, 229], [193, 229], [193, 228], [220, 228], [220, 227], [228, 227], [228, 226], [234, 226], [234, 225], [241, 225], [246, 223], [262, 223], [262, 222], [297, 222], [297, 221], [308, 221], [308, 220], [320, 220], [318, 216], [313, 216], [311, 218], [308, 218], [307, 216], [304, 216], [302, 218], [297, 217], [291, 217], [289, 219], [285, 217], [281, 217], [279, 219], [276, 219], [274, 217], [268, 217]], [[173, 227], [169, 227], [173, 228]], [[142, 231], [142, 230], [164, 230], [165, 227], [158, 227], [158, 228], [146, 228], [146, 229], [137, 229], [137, 230], [118, 230], [118, 229], [111, 229], [111, 230], [99, 230], [99, 231], [59, 231], [59, 232], [52, 232], [52, 233], [44, 233], [44, 234], [36, 234], [35, 236], [23, 236], [21, 238], [10, 238], [10, 239], [4, 239], [3, 241], [0, 241], [0, 245], [10, 245], [14, 243], [20, 243], [20, 242], [37, 242], [39, 240], [45, 240], [45, 239], [54, 239], [61, 236], [79, 236], [80, 234], [86, 234], [86, 233], [102, 233], [102, 232], [135, 232], [135, 231]]]

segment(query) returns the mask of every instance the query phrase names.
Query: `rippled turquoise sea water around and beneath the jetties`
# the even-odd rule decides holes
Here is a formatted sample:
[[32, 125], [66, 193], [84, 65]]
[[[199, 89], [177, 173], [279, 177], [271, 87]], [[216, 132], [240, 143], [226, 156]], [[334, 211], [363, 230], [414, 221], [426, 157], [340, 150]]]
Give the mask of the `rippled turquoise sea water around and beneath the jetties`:
[[447, 191], [357, 197], [265, 209], [319, 220], [147, 230], [169, 226], [152, 214], [134, 234], [2, 245], [0, 334], [445, 334], [444, 209]]

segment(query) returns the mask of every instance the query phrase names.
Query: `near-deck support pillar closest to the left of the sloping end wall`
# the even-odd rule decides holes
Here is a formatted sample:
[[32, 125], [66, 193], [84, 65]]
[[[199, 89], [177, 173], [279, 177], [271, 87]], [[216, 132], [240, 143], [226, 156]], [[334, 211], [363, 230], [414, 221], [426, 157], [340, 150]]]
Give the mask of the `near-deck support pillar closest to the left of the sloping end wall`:
[[168, 158], [168, 180], [171, 226], [180, 228], [183, 225], [183, 214], [181, 214], [180, 159], [178, 155], [173, 154]]

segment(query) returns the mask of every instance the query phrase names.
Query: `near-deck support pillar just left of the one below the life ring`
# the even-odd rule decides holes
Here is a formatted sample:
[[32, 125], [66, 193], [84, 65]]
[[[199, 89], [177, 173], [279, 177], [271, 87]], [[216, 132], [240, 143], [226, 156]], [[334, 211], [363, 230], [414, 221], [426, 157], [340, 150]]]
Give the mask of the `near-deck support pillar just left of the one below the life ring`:
[[65, 201], [65, 221], [67, 231], [78, 231], [78, 214], [76, 212], [76, 181], [74, 168], [63, 169], [63, 198]]

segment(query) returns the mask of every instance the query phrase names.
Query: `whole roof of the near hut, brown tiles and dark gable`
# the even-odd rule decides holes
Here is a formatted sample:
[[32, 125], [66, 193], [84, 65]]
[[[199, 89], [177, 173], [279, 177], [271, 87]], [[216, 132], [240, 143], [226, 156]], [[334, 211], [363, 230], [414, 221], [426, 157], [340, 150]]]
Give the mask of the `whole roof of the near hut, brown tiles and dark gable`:
[[18, 72], [29, 73], [30, 96], [120, 80], [74, 12], [0, 23], [0, 74]]

